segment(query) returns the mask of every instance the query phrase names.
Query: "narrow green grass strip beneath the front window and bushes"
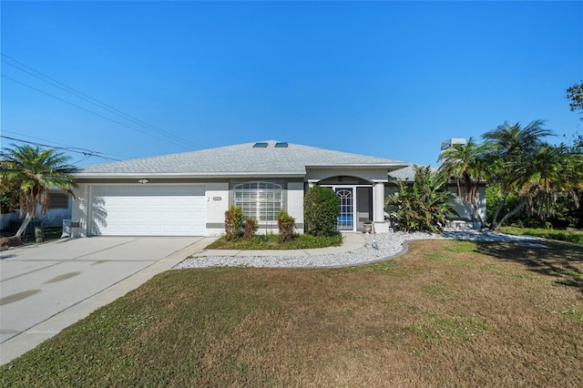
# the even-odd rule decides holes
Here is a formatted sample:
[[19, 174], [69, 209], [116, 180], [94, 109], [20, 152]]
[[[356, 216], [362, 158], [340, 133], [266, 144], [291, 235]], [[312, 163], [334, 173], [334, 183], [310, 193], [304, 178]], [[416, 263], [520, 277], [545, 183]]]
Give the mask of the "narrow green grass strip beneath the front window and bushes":
[[208, 250], [307, 250], [312, 248], [338, 247], [343, 243], [343, 235], [337, 233], [331, 237], [315, 237], [302, 233], [293, 236], [290, 241], [279, 241], [277, 234], [258, 234], [252, 239], [226, 240], [221, 237], [209, 246]]

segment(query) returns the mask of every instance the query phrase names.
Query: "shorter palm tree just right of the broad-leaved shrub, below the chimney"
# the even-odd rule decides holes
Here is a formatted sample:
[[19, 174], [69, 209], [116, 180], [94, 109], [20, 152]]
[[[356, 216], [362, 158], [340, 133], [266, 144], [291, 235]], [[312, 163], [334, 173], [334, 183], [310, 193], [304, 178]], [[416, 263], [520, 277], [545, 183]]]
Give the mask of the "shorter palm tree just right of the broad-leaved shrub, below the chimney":
[[457, 197], [464, 200], [474, 210], [474, 217], [485, 224], [478, 210], [480, 183], [490, 176], [490, 145], [478, 144], [469, 138], [466, 144], [454, 144], [442, 151], [439, 173], [445, 179], [454, 179]]

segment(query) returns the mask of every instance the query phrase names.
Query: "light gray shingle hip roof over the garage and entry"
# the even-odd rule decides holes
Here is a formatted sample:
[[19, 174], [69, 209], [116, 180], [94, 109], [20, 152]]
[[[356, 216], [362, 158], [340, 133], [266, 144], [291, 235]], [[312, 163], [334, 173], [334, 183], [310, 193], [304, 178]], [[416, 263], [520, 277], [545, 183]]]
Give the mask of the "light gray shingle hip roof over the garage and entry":
[[266, 148], [253, 148], [255, 143], [208, 148], [198, 151], [138, 158], [81, 168], [78, 176], [107, 175], [304, 175], [306, 167], [386, 167], [399, 168], [408, 163], [375, 158], [332, 149], [289, 143], [287, 148], [275, 148], [276, 141], [267, 141]]

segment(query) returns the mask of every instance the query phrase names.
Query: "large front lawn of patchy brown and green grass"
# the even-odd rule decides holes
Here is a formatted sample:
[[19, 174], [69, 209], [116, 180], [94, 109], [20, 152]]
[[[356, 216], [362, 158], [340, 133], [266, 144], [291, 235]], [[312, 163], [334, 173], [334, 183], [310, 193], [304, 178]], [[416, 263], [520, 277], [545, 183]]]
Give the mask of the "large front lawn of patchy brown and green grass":
[[2, 386], [583, 386], [583, 247], [415, 241], [329, 270], [165, 272]]

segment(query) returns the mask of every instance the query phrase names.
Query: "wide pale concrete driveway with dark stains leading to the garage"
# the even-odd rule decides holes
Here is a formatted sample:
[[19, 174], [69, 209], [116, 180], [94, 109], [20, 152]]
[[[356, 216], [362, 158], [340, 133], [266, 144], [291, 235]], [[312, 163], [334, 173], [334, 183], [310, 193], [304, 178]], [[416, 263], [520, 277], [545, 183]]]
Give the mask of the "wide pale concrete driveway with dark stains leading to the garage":
[[0, 252], [0, 363], [166, 271], [209, 239], [94, 237]]

